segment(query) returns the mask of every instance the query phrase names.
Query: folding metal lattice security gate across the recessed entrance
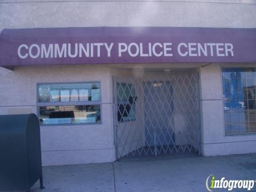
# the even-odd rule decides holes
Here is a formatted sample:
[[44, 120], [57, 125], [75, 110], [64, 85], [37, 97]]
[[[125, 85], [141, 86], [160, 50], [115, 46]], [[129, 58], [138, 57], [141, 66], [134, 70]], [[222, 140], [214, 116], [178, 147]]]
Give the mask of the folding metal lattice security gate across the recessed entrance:
[[113, 76], [116, 157], [200, 153], [198, 74]]

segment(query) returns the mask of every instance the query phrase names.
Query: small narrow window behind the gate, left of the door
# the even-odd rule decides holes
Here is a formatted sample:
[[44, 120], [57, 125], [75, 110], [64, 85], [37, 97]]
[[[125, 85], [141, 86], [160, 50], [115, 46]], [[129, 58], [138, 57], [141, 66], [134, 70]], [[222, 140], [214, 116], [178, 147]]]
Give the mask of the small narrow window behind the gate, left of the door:
[[127, 122], [135, 120], [135, 89], [132, 84], [116, 84], [117, 90], [117, 119], [118, 122]]

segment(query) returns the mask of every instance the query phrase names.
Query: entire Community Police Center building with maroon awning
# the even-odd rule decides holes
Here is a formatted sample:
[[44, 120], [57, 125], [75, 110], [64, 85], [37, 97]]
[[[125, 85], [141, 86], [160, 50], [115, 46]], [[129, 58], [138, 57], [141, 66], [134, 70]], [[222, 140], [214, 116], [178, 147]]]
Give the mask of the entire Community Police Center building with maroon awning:
[[0, 1], [0, 114], [44, 165], [256, 153], [254, 1]]

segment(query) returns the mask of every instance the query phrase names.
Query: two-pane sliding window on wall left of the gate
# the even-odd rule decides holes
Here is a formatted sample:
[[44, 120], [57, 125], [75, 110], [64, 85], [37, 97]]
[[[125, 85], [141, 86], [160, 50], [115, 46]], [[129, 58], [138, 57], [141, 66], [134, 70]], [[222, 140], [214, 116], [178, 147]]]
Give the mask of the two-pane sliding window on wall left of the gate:
[[100, 83], [38, 84], [40, 124], [101, 123]]

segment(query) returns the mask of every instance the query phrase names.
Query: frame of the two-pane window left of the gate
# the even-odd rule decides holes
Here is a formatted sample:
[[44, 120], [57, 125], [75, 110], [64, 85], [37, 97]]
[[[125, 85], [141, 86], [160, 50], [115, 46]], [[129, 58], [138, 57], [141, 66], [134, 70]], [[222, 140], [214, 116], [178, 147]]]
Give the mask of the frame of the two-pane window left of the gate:
[[[99, 83], [100, 100], [99, 101], [66, 101], [66, 102], [38, 102], [39, 97], [39, 85], [42, 84], [77, 84], [77, 83]], [[47, 106], [100, 106], [100, 123], [61, 123], [61, 124], [40, 124], [40, 126], [80, 126], [80, 125], [102, 125], [102, 93], [101, 93], [101, 81], [82, 81], [82, 82], [37, 82], [36, 83], [36, 111], [37, 117], [40, 118], [39, 107]]]

